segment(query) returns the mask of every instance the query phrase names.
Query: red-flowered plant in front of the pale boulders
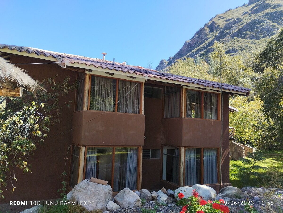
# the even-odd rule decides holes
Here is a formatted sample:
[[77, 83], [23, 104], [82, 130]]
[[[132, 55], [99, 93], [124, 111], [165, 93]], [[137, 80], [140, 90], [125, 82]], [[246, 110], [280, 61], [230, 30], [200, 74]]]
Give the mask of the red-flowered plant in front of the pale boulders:
[[185, 198], [183, 193], [178, 193], [179, 201], [177, 205], [182, 205], [182, 211], [180, 213], [229, 213], [228, 206], [223, 205], [224, 200], [219, 201], [203, 200], [203, 197], [199, 196], [198, 192], [194, 189], [192, 196]]

